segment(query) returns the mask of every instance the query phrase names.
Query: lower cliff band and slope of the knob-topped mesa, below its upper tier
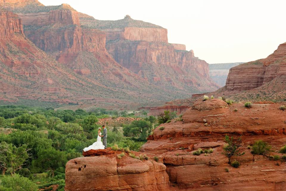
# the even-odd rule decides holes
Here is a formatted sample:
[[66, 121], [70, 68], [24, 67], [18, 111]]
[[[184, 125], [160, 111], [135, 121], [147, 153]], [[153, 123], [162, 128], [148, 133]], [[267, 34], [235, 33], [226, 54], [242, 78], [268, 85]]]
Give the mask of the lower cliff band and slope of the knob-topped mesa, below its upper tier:
[[209, 64], [193, 51], [155, 41], [107, 41], [106, 48], [119, 64], [152, 84], [197, 92], [217, 88], [210, 80]]

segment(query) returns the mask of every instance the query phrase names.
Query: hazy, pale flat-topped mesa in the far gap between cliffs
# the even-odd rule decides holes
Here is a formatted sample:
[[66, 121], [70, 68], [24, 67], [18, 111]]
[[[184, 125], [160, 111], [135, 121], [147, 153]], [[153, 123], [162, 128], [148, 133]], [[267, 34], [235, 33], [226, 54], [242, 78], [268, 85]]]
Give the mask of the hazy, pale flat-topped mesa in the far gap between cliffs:
[[209, 76], [220, 87], [223, 87], [226, 85], [226, 79], [229, 74], [229, 69], [240, 64], [243, 64], [243, 62], [209, 64]]

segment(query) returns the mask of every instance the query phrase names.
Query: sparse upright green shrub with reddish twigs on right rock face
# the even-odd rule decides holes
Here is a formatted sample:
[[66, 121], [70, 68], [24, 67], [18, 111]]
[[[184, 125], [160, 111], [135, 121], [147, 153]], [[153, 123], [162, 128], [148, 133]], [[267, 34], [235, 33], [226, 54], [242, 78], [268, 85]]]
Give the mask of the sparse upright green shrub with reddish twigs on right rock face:
[[241, 137], [234, 140], [233, 137], [229, 137], [228, 135], [226, 135], [224, 141], [226, 141], [226, 145], [223, 147], [223, 150], [224, 154], [229, 158], [229, 164], [230, 158], [232, 156], [240, 156], [245, 154], [245, 152], [240, 153]]

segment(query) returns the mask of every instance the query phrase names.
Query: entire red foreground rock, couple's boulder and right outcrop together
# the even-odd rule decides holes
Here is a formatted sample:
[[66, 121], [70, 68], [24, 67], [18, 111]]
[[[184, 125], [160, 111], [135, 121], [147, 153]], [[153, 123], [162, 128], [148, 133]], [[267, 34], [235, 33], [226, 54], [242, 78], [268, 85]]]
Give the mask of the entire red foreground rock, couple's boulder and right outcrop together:
[[[248, 149], [257, 140], [270, 144], [273, 151], [285, 145], [286, 118], [279, 105], [254, 104], [246, 109], [220, 99], [197, 101], [182, 120], [157, 127], [142, 153], [131, 152], [141, 160], [128, 153], [119, 159], [116, 155], [122, 151], [111, 150], [91, 150], [86, 157], [70, 160], [66, 191], [282, 191], [285, 162], [269, 159], [282, 154], [253, 155]], [[230, 158], [240, 162], [238, 168], [231, 167], [223, 154], [225, 135], [242, 138], [240, 152], [245, 154]], [[213, 152], [193, 155], [199, 148]]]

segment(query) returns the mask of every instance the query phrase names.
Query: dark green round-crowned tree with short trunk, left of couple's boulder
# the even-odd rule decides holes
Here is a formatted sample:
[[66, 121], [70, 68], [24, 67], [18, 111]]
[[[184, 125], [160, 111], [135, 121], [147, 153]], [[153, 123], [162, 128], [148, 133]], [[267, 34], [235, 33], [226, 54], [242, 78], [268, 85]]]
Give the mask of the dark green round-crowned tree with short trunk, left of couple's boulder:
[[39, 157], [32, 161], [32, 166], [35, 170], [52, 170], [52, 177], [55, 175], [55, 170], [60, 167], [65, 167], [67, 156], [65, 152], [49, 148], [39, 152]]

